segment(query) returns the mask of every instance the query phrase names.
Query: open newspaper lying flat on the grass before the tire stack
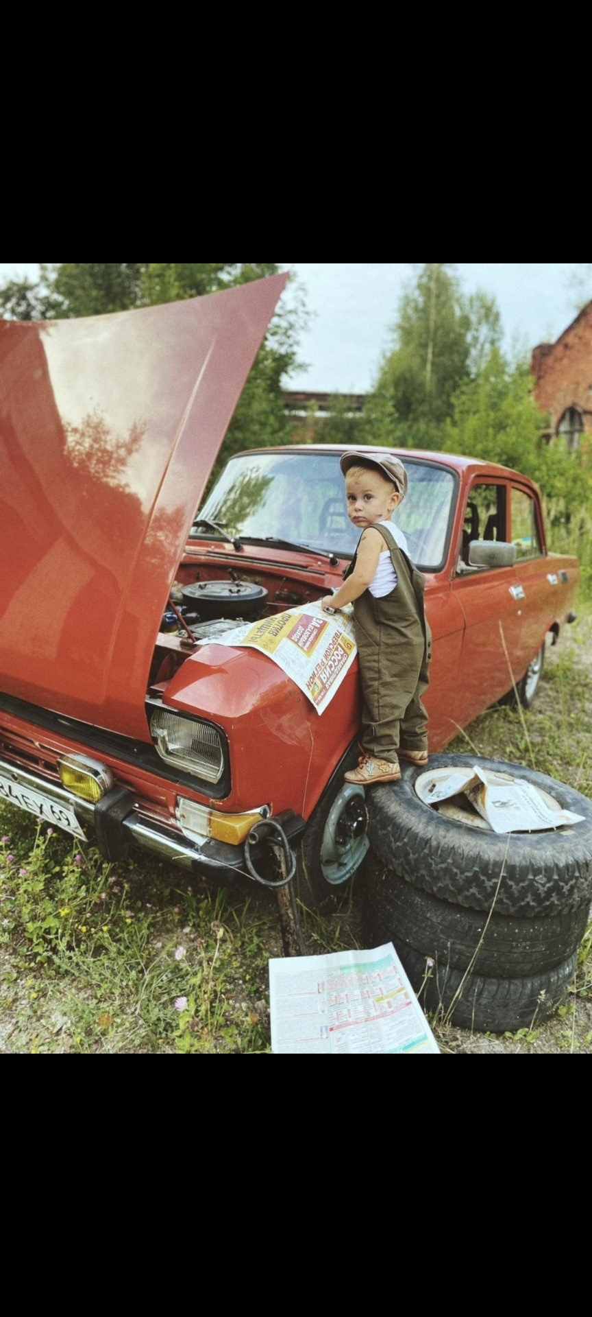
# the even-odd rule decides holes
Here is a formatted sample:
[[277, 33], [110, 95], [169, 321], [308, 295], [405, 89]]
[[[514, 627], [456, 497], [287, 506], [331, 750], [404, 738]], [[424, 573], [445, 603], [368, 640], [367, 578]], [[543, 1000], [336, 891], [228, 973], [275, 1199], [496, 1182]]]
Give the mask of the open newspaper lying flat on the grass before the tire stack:
[[392, 942], [270, 960], [270, 1013], [272, 1052], [439, 1052]]

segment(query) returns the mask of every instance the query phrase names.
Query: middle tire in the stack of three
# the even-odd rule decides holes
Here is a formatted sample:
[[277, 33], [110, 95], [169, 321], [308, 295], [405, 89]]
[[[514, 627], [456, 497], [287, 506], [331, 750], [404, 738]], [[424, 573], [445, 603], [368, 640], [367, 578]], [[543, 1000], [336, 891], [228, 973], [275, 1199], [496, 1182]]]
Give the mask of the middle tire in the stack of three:
[[546, 918], [492, 914], [487, 919], [484, 911], [439, 901], [372, 859], [366, 861], [363, 936], [368, 946], [388, 932], [387, 940], [396, 938], [400, 946], [453, 969], [467, 969], [474, 961], [472, 968], [483, 977], [520, 979], [562, 964], [581, 943], [589, 902]]

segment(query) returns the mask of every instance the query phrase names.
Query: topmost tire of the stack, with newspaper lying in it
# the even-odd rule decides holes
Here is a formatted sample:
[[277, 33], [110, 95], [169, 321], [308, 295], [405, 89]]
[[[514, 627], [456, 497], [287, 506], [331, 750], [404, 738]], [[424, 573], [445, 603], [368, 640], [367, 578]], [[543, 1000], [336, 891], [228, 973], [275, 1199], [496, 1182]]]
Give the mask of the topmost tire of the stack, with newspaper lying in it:
[[425, 769], [401, 764], [400, 782], [372, 786], [368, 795], [368, 836], [378, 859], [441, 901], [485, 911], [495, 901], [495, 914], [517, 919], [560, 915], [589, 902], [592, 801], [543, 773], [503, 760], [432, 755], [428, 772], [475, 764], [538, 786], [563, 809], [583, 815], [583, 822], [545, 832], [471, 827], [424, 805], [414, 782]]

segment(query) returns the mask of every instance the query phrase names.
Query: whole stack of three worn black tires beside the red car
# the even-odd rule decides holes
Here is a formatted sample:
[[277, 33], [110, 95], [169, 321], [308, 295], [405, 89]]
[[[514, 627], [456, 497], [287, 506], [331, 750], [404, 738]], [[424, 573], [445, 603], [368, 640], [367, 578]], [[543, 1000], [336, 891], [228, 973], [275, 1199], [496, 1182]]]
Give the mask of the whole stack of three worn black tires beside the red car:
[[480, 1033], [537, 1026], [566, 1000], [592, 901], [592, 801], [500, 760], [433, 755], [438, 768], [506, 772], [583, 820], [495, 834], [438, 814], [401, 764], [397, 784], [367, 793], [363, 936], [392, 942], [421, 1005]]

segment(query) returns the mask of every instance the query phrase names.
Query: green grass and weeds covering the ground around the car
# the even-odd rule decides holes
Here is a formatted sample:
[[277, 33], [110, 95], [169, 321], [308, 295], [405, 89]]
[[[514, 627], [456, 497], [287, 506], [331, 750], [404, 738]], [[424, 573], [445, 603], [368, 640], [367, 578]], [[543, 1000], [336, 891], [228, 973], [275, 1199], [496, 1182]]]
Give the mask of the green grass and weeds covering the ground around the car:
[[[488, 710], [451, 751], [530, 764], [592, 797], [592, 612], [547, 649], [533, 709]], [[270, 1052], [268, 959], [282, 956], [272, 892], [209, 890], [170, 865], [108, 865], [0, 805], [0, 1051]], [[360, 943], [362, 876], [343, 909], [301, 910], [307, 952]], [[508, 1036], [432, 1021], [446, 1054], [592, 1051], [592, 925], [556, 1015]]]

